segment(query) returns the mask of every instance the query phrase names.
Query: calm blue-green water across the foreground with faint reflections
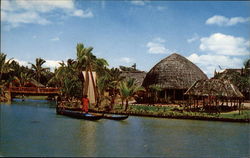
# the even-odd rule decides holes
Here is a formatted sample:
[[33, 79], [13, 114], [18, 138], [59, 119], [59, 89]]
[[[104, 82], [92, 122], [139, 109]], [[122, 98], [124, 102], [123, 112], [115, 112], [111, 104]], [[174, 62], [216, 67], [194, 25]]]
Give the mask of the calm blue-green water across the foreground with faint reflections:
[[87, 121], [56, 115], [55, 103], [0, 106], [2, 156], [249, 157], [250, 126], [129, 117]]

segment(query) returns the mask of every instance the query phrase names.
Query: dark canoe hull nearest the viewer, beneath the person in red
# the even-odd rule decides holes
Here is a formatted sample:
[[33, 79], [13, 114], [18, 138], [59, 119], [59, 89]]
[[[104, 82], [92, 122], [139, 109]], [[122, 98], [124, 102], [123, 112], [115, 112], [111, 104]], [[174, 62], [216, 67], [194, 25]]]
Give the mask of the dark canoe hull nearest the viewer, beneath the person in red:
[[99, 120], [102, 118], [102, 115], [95, 115], [90, 113], [84, 113], [81, 111], [72, 111], [72, 110], [65, 110], [65, 109], [58, 109], [57, 113], [60, 115], [65, 115], [73, 118], [78, 119], [85, 119], [85, 120]]

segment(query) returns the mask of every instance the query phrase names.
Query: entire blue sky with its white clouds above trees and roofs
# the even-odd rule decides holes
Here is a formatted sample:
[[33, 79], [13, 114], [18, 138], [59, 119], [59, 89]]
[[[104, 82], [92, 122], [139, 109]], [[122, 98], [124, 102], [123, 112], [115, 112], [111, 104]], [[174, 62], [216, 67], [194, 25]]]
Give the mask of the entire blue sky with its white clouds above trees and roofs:
[[1, 52], [22, 65], [54, 68], [94, 47], [110, 67], [149, 71], [177, 52], [209, 77], [250, 58], [248, 1], [1, 0]]

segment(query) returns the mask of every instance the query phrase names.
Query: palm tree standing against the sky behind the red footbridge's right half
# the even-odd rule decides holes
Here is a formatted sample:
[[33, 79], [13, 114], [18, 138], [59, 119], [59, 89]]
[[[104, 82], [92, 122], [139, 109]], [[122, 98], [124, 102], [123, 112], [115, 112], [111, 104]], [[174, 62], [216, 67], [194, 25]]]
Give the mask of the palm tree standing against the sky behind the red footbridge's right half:
[[49, 70], [49, 68], [43, 68], [42, 65], [45, 63], [46, 61], [42, 58], [36, 58], [36, 63], [31, 64], [31, 68], [34, 70], [35, 72], [35, 76], [36, 76], [36, 80], [40, 83], [41, 81], [41, 77], [42, 74], [45, 73], [47, 70]]

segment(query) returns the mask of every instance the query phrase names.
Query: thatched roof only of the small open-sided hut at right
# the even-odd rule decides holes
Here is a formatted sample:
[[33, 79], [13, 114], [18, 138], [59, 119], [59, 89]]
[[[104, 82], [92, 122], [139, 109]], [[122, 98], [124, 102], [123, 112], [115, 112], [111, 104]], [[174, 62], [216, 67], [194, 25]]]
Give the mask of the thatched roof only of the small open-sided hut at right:
[[239, 89], [228, 80], [210, 79], [196, 81], [185, 93], [193, 96], [221, 96], [243, 98]]

